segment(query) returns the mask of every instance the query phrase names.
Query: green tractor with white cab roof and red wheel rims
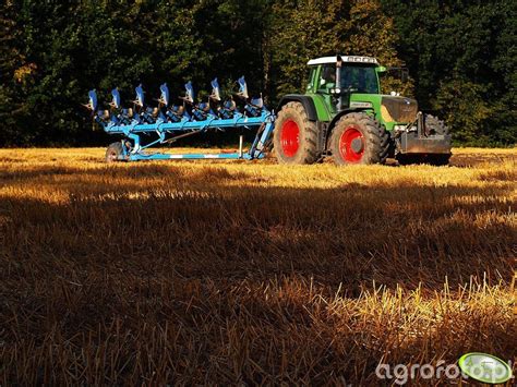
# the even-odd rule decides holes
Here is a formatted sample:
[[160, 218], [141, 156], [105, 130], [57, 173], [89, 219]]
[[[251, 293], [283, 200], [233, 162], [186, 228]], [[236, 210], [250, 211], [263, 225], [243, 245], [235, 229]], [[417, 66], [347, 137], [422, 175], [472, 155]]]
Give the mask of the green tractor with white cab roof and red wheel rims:
[[381, 94], [386, 68], [375, 58], [312, 59], [303, 95], [281, 98], [274, 148], [282, 164], [313, 164], [332, 156], [337, 165], [447, 165], [450, 135], [437, 118], [418, 110], [414, 99]]

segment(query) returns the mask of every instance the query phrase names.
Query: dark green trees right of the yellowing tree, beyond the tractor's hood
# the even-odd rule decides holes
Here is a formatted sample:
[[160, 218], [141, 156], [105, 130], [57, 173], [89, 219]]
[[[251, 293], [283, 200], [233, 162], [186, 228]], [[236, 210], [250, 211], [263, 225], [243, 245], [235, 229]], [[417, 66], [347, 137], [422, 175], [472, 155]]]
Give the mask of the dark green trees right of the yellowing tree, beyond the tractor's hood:
[[517, 142], [517, 9], [510, 0], [382, 0], [420, 107], [444, 117], [457, 142]]

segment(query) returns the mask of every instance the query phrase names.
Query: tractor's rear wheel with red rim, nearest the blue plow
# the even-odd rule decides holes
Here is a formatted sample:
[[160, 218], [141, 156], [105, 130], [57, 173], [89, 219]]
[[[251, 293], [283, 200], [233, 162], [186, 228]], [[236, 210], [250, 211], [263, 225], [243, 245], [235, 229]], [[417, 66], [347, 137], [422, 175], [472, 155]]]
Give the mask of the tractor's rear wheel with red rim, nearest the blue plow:
[[273, 144], [279, 164], [316, 161], [317, 126], [309, 120], [302, 104], [284, 105], [275, 120]]

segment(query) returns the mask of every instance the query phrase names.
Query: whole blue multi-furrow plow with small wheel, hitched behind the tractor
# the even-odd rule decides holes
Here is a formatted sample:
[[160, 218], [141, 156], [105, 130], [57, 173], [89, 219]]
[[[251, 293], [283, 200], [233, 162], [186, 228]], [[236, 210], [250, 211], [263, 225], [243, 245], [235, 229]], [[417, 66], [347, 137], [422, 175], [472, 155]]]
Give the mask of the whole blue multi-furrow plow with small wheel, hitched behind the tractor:
[[[121, 106], [120, 93], [111, 90], [109, 110], [98, 110], [95, 89], [89, 90], [88, 104], [93, 119], [106, 133], [121, 135], [122, 140], [108, 147], [107, 161], [165, 160], [165, 159], [260, 159], [270, 145], [275, 114], [263, 104], [262, 97], [250, 98], [244, 77], [238, 80], [239, 92], [221, 100], [217, 78], [212, 81], [212, 94], [206, 102], [195, 102], [194, 88], [188, 82], [184, 96], [179, 97], [180, 105], [170, 102], [169, 88], [160, 85], [157, 106], [145, 102], [142, 85], [135, 87], [133, 108]], [[237, 102], [236, 102], [237, 100]], [[169, 154], [147, 152], [159, 144], [170, 144], [180, 138], [207, 132], [228, 131], [238, 128], [255, 129], [256, 135], [248, 150], [242, 148], [240, 135], [239, 150], [219, 154]], [[145, 143], [145, 144], [144, 144]]]

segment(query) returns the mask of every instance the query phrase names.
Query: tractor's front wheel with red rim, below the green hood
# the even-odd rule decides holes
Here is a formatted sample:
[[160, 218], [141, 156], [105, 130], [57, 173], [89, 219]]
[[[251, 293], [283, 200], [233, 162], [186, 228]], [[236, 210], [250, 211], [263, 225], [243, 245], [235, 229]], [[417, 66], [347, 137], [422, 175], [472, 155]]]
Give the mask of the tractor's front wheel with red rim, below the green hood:
[[349, 113], [334, 126], [329, 147], [339, 166], [384, 164], [389, 153], [389, 133], [373, 117]]

